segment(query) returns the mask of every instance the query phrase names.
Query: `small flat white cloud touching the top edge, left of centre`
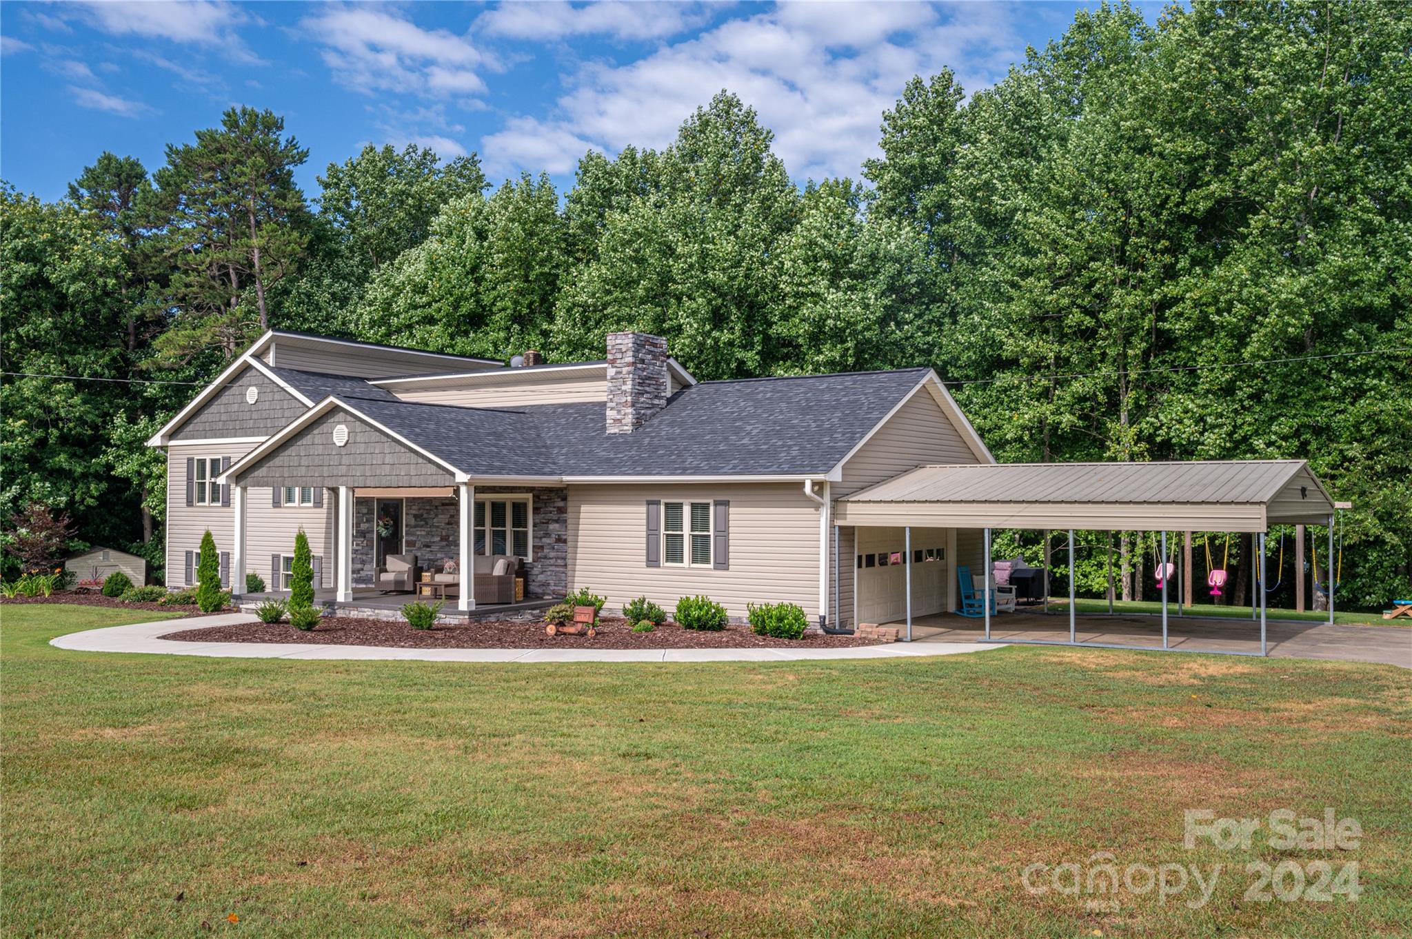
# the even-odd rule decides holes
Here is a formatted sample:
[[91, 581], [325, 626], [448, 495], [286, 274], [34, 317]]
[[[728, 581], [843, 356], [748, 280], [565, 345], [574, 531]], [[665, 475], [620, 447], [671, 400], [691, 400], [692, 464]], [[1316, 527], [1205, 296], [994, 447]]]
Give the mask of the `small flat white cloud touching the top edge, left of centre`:
[[572, 4], [501, 3], [476, 20], [477, 30], [514, 40], [562, 40], [570, 35], [607, 35], [616, 40], [659, 40], [702, 25], [709, 13], [699, 3], [602, 3]]

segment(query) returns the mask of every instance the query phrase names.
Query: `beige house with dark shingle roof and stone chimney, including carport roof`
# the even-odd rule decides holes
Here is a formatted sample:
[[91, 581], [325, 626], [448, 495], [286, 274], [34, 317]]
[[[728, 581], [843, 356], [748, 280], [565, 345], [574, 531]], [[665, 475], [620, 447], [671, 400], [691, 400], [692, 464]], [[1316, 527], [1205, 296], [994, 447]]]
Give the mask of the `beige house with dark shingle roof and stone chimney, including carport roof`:
[[[849, 627], [955, 609], [991, 527], [1264, 531], [1333, 511], [1299, 460], [1180, 465], [1176, 497], [1162, 463], [1015, 474], [931, 369], [698, 381], [657, 336], [613, 333], [606, 353], [505, 367], [265, 333], [148, 442], [168, 453], [168, 583], [192, 583], [210, 530], [237, 594], [244, 572], [287, 589], [302, 527], [337, 603], [388, 555], [507, 556], [530, 597], [700, 593], [733, 617], [788, 600]], [[966, 467], [960, 487], [932, 476]]]

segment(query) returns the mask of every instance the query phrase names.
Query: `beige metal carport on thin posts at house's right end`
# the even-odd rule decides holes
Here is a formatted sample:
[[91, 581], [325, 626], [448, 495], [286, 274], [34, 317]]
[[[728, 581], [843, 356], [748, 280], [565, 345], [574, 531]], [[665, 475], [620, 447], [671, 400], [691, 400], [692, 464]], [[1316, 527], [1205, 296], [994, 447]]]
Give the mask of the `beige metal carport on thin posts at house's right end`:
[[[1069, 641], [1018, 641], [1077, 645], [1073, 586], [1075, 531], [1161, 531], [1163, 558], [1168, 531], [1254, 532], [1258, 541], [1260, 583], [1264, 585], [1265, 532], [1271, 525], [1327, 525], [1327, 583], [1333, 585], [1334, 513], [1333, 498], [1315, 479], [1305, 460], [1001, 463], [919, 466], [839, 498], [834, 503], [834, 524], [901, 527], [907, 531], [908, 541], [912, 527], [983, 530], [986, 641], [991, 641], [991, 530], [1067, 530]], [[952, 569], [955, 572], [955, 565]], [[836, 554], [834, 583], [839, 573]], [[907, 580], [911, 599], [911, 563]], [[1258, 655], [1267, 654], [1265, 614], [1267, 602], [1261, 590]], [[1333, 623], [1332, 590], [1329, 623]], [[911, 602], [907, 627], [911, 638]], [[1162, 582], [1162, 648], [1171, 648], [1166, 580]], [[1233, 654], [1255, 655], [1255, 652]]]

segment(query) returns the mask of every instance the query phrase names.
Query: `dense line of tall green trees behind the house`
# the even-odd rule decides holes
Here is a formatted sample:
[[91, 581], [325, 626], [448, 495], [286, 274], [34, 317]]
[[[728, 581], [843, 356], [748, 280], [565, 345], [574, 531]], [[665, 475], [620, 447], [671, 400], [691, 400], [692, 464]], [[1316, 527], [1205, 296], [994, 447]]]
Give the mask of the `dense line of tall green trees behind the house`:
[[1309, 459], [1354, 503], [1347, 602], [1381, 603], [1412, 569], [1409, 48], [1396, 4], [1106, 4], [994, 88], [914, 78], [860, 179], [803, 186], [729, 92], [563, 193], [408, 145], [309, 198], [284, 120], [236, 107], [151, 172], [0, 193], [0, 514], [160, 562], [141, 442], [268, 326], [551, 360], [634, 328], [700, 378], [929, 364], [1001, 460]]

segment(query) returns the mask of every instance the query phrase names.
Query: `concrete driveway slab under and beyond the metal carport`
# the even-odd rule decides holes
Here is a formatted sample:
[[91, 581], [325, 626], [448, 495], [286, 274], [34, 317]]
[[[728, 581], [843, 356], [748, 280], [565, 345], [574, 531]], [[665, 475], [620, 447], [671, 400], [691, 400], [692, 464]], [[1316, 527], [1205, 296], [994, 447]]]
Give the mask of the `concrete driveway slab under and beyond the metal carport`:
[[[890, 623], [905, 628], [905, 624]], [[1162, 620], [1155, 616], [1093, 616], [1076, 620], [1080, 642], [1111, 642], [1162, 648]], [[994, 640], [1069, 640], [1066, 613], [1001, 613], [991, 618]], [[980, 620], [955, 614], [916, 617], [912, 638], [923, 642], [974, 642], [984, 635]], [[1260, 623], [1213, 617], [1168, 617], [1172, 648], [1203, 652], [1258, 652]], [[1344, 662], [1380, 662], [1412, 668], [1412, 628], [1392, 626], [1329, 626], [1271, 620], [1269, 654], [1281, 658], [1320, 658]]]

